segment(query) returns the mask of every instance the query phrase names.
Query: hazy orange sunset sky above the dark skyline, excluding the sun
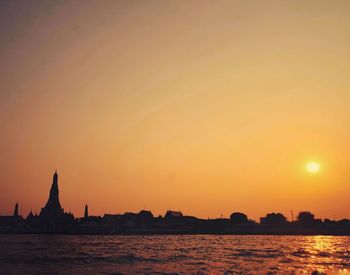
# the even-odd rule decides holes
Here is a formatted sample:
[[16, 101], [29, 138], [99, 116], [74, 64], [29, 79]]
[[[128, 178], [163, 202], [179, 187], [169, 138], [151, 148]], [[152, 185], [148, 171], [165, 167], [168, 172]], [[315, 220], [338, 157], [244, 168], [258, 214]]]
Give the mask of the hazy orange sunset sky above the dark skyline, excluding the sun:
[[[1, 1], [0, 215], [350, 218], [349, 1]], [[305, 165], [316, 161], [311, 174]]]

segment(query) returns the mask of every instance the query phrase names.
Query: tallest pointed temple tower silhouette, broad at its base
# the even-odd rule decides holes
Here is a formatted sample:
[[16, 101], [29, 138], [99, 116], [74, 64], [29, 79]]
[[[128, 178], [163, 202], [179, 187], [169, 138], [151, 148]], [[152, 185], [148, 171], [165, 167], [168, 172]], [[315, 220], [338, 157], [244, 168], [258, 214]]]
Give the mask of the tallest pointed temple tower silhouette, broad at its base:
[[40, 217], [46, 219], [57, 219], [62, 217], [64, 210], [61, 207], [58, 191], [58, 174], [57, 171], [53, 174], [52, 185], [50, 189], [49, 199], [44, 208], [41, 209]]

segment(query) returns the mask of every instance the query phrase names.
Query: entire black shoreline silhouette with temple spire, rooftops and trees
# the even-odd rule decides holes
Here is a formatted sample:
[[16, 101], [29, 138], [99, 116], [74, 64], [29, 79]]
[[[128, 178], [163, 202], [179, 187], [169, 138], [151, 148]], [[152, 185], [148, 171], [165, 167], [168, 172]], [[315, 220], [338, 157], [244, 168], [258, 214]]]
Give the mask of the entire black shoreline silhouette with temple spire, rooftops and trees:
[[164, 217], [152, 212], [89, 215], [85, 205], [84, 217], [75, 218], [64, 212], [59, 199], [58, 173], [53, 174], [46, 205], [39, 215], [30, 211], [27, 218], [19, 214], [15, 204], [12, 216], [0, 216], [0, 233], [66, 233], [66, 234], [326, 234], [350, 235], [350, 220], [315, 219], [308, 211], [300, 212], [296, 221], [289, 222], [281, 213], [269, 213], [260, 223], [244, 213], [233, 212], [229, 219], [199, 219], [168, 210]]

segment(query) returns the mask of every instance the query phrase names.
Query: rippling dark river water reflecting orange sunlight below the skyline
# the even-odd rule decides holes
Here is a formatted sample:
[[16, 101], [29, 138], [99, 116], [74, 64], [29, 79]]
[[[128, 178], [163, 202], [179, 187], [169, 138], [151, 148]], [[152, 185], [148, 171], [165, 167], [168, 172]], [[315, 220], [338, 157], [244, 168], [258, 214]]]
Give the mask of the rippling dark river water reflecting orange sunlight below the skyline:
[[0, 235], [1, 274], [350, 274], [350, 237]]

